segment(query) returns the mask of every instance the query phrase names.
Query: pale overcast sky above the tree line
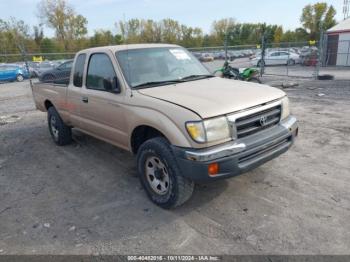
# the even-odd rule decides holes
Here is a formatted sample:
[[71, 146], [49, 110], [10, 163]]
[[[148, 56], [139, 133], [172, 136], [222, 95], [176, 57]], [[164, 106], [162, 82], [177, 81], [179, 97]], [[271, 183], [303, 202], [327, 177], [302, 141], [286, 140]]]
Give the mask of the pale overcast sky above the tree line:
[[[322, 0], [319, 0], [322, 1]], [[33, 26], [39, 23], [37, 4], [40, 0], [0, 0], [0, 18], [11, 16]], [[160, 20], [172, 18], [189, 26], [209, 32], [211, 23], [226, 17], [238, 22], [266, 22], [283, 25], [284, 29], [300, 26], [302, 8], [317, 0], [68, 0], [76, 12], [88, 19], [89, 34], [96, 29], [116, 33], [115, 23], [130, 18]], [[342, 19], [343, 0], [324, 0], [337, 10]], [[45, 34], [52, 31], [45, 29]]]

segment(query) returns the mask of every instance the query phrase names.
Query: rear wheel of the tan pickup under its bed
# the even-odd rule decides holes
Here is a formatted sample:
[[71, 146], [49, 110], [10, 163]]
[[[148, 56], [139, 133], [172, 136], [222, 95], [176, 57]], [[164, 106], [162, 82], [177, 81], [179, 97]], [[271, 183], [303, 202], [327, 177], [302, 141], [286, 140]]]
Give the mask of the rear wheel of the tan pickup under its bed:
[[63, 122], [53, 106], [47, 110], [47, 122], [51, 137], [57, 145], [64, 146], [72, 142], [72, 129]]

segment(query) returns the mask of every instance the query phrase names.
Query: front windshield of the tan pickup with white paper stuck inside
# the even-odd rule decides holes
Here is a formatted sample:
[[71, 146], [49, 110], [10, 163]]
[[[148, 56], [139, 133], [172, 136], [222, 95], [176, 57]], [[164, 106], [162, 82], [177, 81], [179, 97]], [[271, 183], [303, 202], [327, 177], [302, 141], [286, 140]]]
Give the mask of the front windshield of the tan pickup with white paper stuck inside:
[[180, 47], [130, 49], [116, 52], [132, 88], [146, 88], [212, 77], [190, 52]]

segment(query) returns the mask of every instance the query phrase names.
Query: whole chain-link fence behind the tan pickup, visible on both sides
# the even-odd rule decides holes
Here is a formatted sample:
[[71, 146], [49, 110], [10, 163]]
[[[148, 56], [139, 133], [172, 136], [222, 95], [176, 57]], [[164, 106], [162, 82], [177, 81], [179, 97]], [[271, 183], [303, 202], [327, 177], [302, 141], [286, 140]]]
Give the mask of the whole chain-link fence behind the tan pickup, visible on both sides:
[[[31, 77], [40, 77], [74, 57], [75, 52], [45, 52], [30, 47], [19, 51], [0, 50], [0, 67], [18, 64], [27, 66]], [[350, 80], [350, 34], [325, 35], [319, 42], [264, 43], [258, 45], [188, 48], [212, 72], [225, 61], [231, 67], [256, 68], [263, 76], [317, 78], [330, 74]], [[0, 68], [0, 70], [1, 70]]]

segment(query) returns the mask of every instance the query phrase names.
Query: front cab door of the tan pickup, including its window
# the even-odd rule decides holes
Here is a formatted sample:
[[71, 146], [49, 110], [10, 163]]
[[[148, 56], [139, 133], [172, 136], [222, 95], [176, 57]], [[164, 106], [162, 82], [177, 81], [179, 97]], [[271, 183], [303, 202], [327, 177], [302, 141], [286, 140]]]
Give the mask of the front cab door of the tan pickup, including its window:
[[82, 129], [122, 148], [128, 148], [125, 92], [120, 85], [115, 58], [90, 54], [82, 90]]

